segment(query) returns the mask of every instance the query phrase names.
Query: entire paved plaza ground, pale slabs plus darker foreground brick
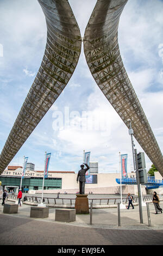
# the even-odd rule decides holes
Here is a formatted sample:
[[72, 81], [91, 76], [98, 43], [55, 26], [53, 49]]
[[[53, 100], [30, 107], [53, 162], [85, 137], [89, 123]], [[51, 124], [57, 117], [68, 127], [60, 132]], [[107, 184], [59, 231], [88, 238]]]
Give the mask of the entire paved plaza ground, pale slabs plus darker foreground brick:
[[121, 227], [117, 208], [93, 209], [90, 225], [89, 214], [76, 215], [71, 223], [56, 222], [55, 208], [49, 209], [48, 218], [30, 218], [30, 207], [22, 204], [17, 214], [3, 214], [0, 204], [0, 245], [163, 245], [163, 214], [155, 215], [152, 203], [151, 227], [146, 206], [142, 224], [139, 206], [121, 210]]

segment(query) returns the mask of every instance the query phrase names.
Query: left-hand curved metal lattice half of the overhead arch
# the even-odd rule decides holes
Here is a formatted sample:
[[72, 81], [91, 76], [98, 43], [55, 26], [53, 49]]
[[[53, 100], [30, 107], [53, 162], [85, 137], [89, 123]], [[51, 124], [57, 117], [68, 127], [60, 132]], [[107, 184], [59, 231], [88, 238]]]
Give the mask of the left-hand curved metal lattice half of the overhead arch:
[[38, 0], [46, 18], [45, 54], [0, 155], [0, 174], [35, 129], [70, 80], [82, 38], [67, 0]]

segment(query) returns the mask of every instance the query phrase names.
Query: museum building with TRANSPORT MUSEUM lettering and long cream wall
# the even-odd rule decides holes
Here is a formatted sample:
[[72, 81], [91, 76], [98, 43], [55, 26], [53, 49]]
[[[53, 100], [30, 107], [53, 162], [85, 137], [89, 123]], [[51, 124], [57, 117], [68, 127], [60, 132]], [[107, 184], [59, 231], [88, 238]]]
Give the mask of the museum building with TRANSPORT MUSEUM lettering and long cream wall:
[[[134, 173], [128, 173], [134, 176]], [[0, 175], [3, 189], [18, 192], [21, 184], [22, 167], [8, 166]], [[120, 173], [95, 173], [86, 179], [85, 193], [120, 193], [120, 185], [117, 184], [116, 178], [120, 178]], [[133, 177], [134, 178], [134, 177]], [[43, 171], [27, 171], [22, 179], [22, 192], [41, 193], [43, 184]], [[122, 192], [130, 191], [134, 193], [134, 185], [123, 185]], [[49, 171], [48, 178], [44, 181], [44, 193], [77, 193], [79, 191], [79, 183], [77, 183], [77, 173], [66, 171]]]

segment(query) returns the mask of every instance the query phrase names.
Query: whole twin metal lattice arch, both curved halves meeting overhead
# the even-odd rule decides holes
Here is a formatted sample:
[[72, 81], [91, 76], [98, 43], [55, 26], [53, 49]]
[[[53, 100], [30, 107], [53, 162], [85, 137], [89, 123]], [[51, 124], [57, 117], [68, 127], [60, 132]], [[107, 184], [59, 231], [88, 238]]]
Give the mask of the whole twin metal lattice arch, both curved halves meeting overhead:
[[[47, 23], [47, 44], [37, 76], [0, 156], [0, 174], [70, 80], [80, 51], [79, 28], [67, 0], [38, 0]], [[163, 175], [163, 157], [124, 69], [118, 46], [118, 22], [127, 0], [98, 0], [84, 35], [87, 64], [116, 112]]]

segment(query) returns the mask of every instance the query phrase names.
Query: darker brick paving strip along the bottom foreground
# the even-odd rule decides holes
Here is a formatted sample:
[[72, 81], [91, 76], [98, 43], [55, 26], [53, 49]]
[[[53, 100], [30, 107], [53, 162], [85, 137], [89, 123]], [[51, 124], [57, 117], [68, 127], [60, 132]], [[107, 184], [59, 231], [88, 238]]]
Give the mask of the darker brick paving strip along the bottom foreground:
[[0, 245], [163, 245], [163, 230], [78, 227], [0, 214]]

